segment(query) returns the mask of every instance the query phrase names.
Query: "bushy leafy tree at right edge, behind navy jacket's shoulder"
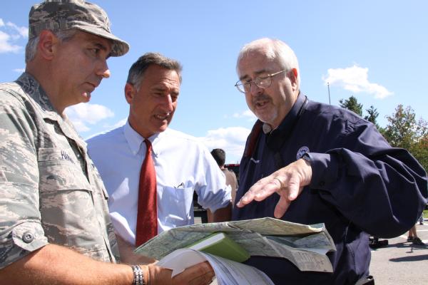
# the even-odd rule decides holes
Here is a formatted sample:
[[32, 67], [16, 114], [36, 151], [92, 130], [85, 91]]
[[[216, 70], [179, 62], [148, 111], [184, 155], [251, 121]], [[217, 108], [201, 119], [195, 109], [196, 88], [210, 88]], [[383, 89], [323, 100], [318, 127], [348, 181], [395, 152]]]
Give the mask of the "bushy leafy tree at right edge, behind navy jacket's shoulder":
[[402, 147], [428, 168], [428, 124], [422, 118], [416, 120], [414, 110], [408, 106], [398, 105], [395, 113], [387, 116], [388, 125], [381, 130], [384, 138], [393, 147]]

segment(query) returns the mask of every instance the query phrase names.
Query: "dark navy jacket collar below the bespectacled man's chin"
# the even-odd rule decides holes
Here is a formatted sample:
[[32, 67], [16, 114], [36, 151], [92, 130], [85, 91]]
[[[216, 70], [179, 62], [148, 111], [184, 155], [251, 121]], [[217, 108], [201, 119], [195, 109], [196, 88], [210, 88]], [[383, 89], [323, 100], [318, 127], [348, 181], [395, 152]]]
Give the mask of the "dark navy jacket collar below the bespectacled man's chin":
[[294, 105], [292, 105], [290, 112], [288, 112], [280, 125], [275, 130], [272, 130], [269, 134], [266, 134], [266, 143], [270, 149], [280, 150], [280, 147], [285, 142], [285, 140], [287, 140], [288, 135], [295, 125], [295, 122], [299, 118], [300, 110], [302, 109], [305, 102], [306, 96], [302, 93], [299, 93], [296, 102]]

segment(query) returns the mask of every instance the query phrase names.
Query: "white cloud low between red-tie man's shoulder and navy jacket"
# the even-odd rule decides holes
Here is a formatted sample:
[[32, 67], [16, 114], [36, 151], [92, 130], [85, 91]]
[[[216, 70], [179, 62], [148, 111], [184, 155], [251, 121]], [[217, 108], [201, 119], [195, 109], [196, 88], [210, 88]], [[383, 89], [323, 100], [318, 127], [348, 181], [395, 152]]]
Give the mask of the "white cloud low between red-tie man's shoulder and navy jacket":
[[219, 128], [209, 130], [205, 137], [199, 139], [209, 150], [223, 148], [226, 152], [226, 163], [234, 163], [240, 161], [250, 131], [241, 127]]

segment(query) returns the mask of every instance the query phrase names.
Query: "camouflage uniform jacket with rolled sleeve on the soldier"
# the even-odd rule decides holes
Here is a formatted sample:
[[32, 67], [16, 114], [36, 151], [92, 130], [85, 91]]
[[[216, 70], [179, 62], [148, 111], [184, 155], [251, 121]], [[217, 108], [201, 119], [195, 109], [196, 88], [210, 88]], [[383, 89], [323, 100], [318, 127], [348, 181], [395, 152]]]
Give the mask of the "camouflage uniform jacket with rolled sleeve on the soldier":
[[28, 73], [0, 84], [0, 269], [44, 245], [101, 261], [118, 250], [86, 143]]

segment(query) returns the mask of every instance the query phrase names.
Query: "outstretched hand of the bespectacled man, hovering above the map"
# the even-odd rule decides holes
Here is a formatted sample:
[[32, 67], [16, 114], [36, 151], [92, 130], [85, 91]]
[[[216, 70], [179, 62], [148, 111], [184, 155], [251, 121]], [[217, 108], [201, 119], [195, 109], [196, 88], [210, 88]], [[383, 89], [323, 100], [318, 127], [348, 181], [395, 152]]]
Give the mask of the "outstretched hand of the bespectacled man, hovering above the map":
[[262, 201], [276, 192], [280, 195], [280, 201], [277, 202], [274, 216], [280, 219], [287, 211], [290, 203], [300, 195], [303, 187], [310, 184], [311, 179], [310, 162], [302, 159], [297, 160], [255, 182], [255, 185], [250, 187], [236, 206], [244, 207], [253, 200]]

